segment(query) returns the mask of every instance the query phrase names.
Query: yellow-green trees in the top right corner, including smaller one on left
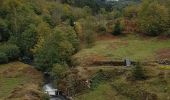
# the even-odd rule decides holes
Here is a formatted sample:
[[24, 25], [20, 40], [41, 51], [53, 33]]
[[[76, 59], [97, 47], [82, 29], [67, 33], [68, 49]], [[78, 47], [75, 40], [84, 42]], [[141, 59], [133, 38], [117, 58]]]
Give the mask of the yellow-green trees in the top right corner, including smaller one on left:
[[137, 32], [150, 36], [170, 34], [169, 0], [144, 0], [125, 8], [124, 17], [136, 21]]

